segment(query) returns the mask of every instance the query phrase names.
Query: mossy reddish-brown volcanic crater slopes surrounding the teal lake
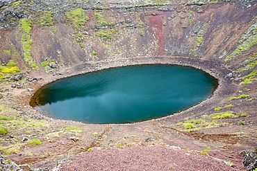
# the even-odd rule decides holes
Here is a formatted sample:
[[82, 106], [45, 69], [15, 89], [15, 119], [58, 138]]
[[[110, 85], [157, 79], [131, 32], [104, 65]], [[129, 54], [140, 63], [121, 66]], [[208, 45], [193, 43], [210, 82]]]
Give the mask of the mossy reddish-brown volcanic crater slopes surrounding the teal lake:
[[[83, 152], [165, 145], [244, 170], [242, 151], [257, 146], [256, 8], [256, 1], [0, 1], [0, 153], [50, 170]], [[29, 105], [55, 80], [138, 64], [192, 66], [219, 86], [177, 114], [122, 125], [56, 120]]]

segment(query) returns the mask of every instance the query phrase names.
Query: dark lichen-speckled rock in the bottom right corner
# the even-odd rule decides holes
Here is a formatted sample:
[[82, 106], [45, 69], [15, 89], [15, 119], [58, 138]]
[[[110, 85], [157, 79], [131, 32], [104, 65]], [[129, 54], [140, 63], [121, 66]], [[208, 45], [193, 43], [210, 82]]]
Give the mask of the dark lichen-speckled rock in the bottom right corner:
[[247, 156], [244, 157], [244, 160], [242, 161], [244, 164], [244, 168], [247, 168], [247, 170], [254, 170], [257, 168], [257, 150], [251, 150]]

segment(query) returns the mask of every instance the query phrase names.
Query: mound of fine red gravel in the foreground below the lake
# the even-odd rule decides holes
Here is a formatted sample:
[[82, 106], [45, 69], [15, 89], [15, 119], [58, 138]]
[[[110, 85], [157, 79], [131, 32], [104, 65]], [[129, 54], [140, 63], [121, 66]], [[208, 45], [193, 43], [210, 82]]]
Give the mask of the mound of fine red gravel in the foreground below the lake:
[[165, 145], [127, 147], [85, 152], [60, 170], [242, 170], [197, 152], [173, 150]]

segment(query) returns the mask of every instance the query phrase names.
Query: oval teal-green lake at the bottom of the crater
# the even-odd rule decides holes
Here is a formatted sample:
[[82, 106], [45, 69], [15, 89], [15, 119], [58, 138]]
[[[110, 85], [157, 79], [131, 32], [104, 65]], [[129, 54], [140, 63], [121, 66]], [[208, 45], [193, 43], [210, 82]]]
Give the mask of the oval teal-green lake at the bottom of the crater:
[[217, 82], [185, 66], [139, 65], [58, 80], [31, 104], [42, 114], [83, 123], [133, 123], [160, 118], [209, 98]]

